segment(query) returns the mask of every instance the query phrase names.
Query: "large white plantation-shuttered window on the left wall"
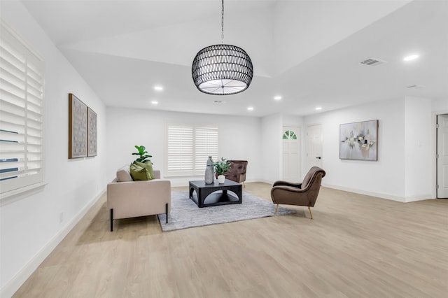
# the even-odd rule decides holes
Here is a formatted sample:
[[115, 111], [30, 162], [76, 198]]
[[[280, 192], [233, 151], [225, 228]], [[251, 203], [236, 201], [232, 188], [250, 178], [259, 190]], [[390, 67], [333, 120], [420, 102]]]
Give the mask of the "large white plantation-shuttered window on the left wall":
[[44, 64], [0, 26], [0, 192], [7, 197], [43, 183]]

